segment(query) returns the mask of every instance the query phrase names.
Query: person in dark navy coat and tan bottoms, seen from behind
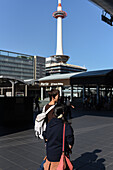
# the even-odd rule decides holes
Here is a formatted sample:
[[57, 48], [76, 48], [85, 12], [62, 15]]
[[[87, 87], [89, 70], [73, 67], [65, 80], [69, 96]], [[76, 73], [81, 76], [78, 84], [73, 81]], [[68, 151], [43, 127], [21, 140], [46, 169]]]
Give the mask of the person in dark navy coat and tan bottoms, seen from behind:
[[65, 154], [69, 157], [74, 144], [73, 129], [63, 119], [64, 105], [56, 105], [54, 117], [47, 124], [43, 136], [46, 142], [46, 162], [44, 170], [56, 170], [62, 155], [63, 126], [65, 123]]

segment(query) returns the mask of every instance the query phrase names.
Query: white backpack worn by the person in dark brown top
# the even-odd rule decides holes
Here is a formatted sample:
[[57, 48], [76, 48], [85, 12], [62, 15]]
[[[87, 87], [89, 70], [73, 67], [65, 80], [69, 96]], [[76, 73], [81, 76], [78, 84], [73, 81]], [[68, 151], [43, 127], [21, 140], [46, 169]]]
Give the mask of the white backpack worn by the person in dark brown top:
[[38, 114], [35, 119], [35, 136], [40, 139], [43, 139], [43, 131], [45, 131], [46, 129], [46, 115], [55, 107], [55, 105], [52, 105], [47, 111], [45, 111], [45, 107], [46, 105], [43, 107], [42, 113]]

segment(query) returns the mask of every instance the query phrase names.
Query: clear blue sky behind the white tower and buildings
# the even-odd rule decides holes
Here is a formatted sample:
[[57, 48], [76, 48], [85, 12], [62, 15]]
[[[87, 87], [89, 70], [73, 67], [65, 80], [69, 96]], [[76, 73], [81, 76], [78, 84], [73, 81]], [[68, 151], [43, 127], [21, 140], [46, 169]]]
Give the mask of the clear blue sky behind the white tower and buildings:
[[[69, 64], [113, 68], [113, 27], [88, 0], [62, 0], [63, 49]], [[57, 0], [0, 0], [0, 49], [49, 57], [56, 53]]]

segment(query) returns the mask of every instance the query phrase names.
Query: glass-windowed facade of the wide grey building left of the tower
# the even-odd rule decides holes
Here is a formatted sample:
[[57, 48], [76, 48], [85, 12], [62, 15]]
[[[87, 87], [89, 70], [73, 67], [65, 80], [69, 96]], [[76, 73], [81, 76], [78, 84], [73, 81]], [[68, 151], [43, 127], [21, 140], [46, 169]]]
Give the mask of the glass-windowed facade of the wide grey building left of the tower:
[[34, 63], [34, 56], [0, 50], [0, 75], [26, 80], [34, 79], [34, 72], [36, 79], [45, 76], [44, 57], [36, 56]]

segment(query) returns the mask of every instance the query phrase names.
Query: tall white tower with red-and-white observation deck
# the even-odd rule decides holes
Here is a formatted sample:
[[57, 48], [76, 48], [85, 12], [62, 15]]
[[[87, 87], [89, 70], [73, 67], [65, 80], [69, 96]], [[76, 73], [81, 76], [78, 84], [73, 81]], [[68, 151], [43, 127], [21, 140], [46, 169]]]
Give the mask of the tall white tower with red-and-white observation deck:
[[53, 13], [53, 17], [57, 19], [57, 48], [56, 48], [56, 58], [57, 62], [66, 63], [69, 56], [63, 54], [63, 44], [62, 44], [62, 19], [67, 16], [65, 11], [62, 11], [61, 0], [58, 0], [57, 11]]

